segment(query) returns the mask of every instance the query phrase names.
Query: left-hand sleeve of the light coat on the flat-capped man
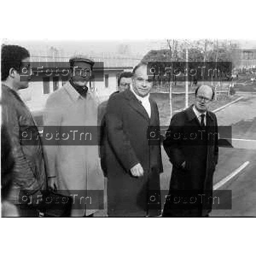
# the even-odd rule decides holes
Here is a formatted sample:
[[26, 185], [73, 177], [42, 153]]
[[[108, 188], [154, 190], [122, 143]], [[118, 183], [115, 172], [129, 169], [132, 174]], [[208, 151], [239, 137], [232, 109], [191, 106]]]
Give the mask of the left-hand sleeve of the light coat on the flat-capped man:
[[[55, 95], [52, 94], [47, 99], [44, 111], [44, 133], [47, 133], [51, 126], [55, 127], [55, 131], [61, 133], [61, 111]], [[55, 176], [56, 160], [57, 160], [57, 143], [56, 145], [44, 145], [45, 161], [47, 162], [47, 175]]]

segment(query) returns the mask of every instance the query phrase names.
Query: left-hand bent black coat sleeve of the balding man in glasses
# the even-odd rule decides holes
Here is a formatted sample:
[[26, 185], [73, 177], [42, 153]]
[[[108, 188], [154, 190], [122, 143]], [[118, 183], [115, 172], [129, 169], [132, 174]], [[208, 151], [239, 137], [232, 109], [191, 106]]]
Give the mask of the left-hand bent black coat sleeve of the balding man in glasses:
[[185, 161], [183, 151], [177, 143], [172, 143], [172, 138], [168, 134], [172, 131], [172, 134], [179, 134], [180, 127], [183, 126], [181, 113], [177, 113], [171, 119], [168, 130], [166, 131], [165, 139], [163, 140], [163, 147], [166, 154], [169, 157], [170, 162], [175, 167], [180, 167], [180, 165]]

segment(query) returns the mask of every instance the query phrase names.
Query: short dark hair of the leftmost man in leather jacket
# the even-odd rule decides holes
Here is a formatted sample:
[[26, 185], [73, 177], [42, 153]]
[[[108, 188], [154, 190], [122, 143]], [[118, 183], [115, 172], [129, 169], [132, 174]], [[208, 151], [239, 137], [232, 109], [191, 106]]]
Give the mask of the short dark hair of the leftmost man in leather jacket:
[[5, 81], [11, 68], [19, 71], [23, 59], [28, 58], [29, 51], [19, 45], [1, 46], [1, 80]]

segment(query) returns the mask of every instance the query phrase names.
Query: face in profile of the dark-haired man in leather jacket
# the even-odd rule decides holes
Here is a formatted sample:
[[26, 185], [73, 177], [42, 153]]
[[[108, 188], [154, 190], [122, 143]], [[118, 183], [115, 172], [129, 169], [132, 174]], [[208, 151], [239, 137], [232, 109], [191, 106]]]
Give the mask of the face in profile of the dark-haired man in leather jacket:
[[22, 60], [20, 64], [20, 70], [14, 71], [14, 84], [17, 90], [26, 89], [29, 87], [29, 81], [31, 80], [30, 76], [22, 76], [22, 74], [28, 74], [31, 73], [31, 67], [30, 67], [30, 58], [25, 58]]

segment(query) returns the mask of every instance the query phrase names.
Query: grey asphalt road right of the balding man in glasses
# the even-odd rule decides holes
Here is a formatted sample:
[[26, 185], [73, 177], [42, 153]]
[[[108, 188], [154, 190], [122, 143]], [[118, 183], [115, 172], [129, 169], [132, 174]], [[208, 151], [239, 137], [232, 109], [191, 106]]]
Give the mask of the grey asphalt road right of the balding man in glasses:
[[232, 191], [232, 209], [215, 209], [211, 216], [256, 216], [256, 94], [241, 93], [241, 96], [244, 99], [216, 113], [218, 125], [232, 125], [234, 148], [219, 149], [214, 184], [243, 163], [249, 161], [249, 164], [219, 188]]

